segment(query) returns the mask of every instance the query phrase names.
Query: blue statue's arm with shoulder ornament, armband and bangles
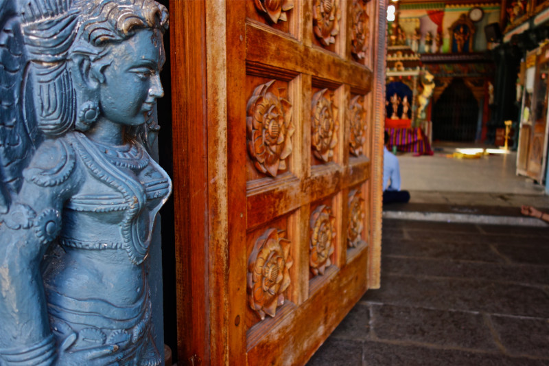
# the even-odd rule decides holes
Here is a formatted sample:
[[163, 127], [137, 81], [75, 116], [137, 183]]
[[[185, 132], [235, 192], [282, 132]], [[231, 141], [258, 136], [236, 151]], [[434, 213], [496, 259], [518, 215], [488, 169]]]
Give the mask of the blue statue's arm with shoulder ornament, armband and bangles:
[[[0, 217], [0, 360], [48, 365], [56, 354], [40, 261], [60, 231], [63, 203], [78, 185], [71, 146], [46, 141], [23, 175], [21, 191]], [[37, 354], [44, 363], [36, 362]]]

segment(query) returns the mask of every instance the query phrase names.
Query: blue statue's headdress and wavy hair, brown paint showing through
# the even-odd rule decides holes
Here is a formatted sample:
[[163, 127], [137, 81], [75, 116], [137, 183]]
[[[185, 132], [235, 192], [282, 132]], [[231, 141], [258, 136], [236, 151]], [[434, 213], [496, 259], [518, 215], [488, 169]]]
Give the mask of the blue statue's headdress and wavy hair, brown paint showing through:
[[106, 43], [123, 41], [141, 28], [167, 27], [167, 10], [154, 0], [25, 0], [21, 14], [36, 124], [51, 137], [75, 124], [89, 128], [79, 111], [89, 108], [89, 101], [75, 90], [67, 60], [75, 54], [96, 60], [104, 56]]

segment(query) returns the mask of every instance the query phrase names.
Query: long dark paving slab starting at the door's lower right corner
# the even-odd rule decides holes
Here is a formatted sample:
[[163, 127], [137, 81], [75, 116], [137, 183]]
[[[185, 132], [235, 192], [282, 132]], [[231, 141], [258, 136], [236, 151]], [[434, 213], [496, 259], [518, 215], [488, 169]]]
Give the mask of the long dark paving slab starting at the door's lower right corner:
[[476, 279], [382, 275], [382, 287], [362, 301], [423, 308], [549, 317], [549, 297], [540, 288]]

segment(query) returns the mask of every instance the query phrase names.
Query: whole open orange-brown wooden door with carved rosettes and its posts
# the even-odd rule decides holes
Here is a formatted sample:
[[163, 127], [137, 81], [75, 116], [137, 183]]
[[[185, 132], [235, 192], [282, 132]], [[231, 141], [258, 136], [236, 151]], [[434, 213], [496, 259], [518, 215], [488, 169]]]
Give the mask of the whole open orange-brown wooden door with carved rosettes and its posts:
[[379, 286], [386, 4], [170, 5], [180, 358], [303, 365]]

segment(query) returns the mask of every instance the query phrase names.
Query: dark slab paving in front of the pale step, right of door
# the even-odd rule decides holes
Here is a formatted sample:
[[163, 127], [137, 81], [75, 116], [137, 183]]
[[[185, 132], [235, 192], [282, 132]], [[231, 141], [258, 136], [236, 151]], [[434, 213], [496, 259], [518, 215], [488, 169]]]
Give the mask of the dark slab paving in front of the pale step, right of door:
[[307, 365], [549, 365], [548, 235], [384, 219], [381, 289]]

